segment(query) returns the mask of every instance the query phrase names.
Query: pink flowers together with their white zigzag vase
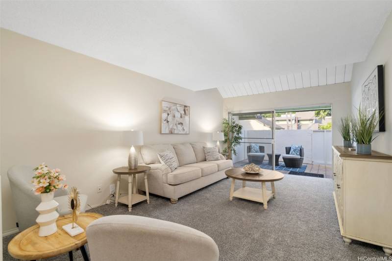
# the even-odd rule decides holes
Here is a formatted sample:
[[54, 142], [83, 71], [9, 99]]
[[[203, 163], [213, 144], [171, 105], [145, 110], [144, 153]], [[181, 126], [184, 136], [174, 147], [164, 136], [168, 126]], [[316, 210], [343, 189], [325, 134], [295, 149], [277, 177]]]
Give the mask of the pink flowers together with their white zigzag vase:
[[53, 200], [54, 191], [67, 189], [68, 185], [61, 184], [65, 176], [60, 174], [58, 168], [50, 169], [43, 163], [33, 170], [35, 172], [31, 183], [34, 185], [35, 194], [41, 195], [41, 203], [35, 209], [40, 214], [35, 221], [40, 225], [38, 236], [46, 237], [57, 231], [56, 220], [59, 214], [56, 212], [58, 203]]

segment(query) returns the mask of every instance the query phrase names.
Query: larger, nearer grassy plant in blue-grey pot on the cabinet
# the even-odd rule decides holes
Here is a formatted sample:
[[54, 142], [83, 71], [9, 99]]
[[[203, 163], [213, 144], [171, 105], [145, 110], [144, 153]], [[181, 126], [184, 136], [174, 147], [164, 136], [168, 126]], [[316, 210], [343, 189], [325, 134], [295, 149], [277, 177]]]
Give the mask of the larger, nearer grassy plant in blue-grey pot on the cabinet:
[[357, 154], [371, 154], [371, 142], [374, 141], [373, 132], [377, 127], [379, 118], [374, 110], [367, 114], [359, 106], [358, 114], [351, 119], [353, 140], [357, 143]]

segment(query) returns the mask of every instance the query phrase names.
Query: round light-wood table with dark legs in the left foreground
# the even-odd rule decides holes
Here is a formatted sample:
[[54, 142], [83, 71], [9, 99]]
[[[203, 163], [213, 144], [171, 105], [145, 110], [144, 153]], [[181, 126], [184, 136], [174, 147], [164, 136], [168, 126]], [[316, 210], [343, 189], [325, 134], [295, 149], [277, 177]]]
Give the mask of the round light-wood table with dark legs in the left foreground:
[[72, 251], [80, 248], [84, 261], [88, 261], [84, 245], [87, 243], [86, 227], [94, 220], [102, 217], [97, 213], [80, 213], [77, 224], [84, 232], [71, 237], [62, 229], [62, 226], [72, 223], [72, 215], [57, 218], [57, 232], [47, 237], [39, 237], [39, 225], [31, 226], [16, 235], [8, 244], [9, 254], [16, 259], [38, 260], [55, 257], [68, 252], [70, 261], [73, 261]]

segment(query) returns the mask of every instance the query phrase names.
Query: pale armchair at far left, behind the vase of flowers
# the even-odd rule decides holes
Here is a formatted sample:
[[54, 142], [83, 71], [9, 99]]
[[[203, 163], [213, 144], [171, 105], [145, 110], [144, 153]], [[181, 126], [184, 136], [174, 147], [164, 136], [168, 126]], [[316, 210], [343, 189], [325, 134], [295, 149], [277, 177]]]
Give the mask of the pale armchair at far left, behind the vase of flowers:
[[[13, 166], [7, 171], [19, 231], [35, 225], [35, 219], [39, 214], [35, 208], [41, 203], [41, 198], [40, 195], [34, 194], [33, 185], [30, 182], [34, 176], [33, 168], [32, 166]], [[60, 215], [70, 214], [67, 190], [56, 190], [54, 196], [54, 200], [59, 204], [57, 212]], [[80, 212], [86, 212], [87, 195], [80, 194], [79, 196]]]

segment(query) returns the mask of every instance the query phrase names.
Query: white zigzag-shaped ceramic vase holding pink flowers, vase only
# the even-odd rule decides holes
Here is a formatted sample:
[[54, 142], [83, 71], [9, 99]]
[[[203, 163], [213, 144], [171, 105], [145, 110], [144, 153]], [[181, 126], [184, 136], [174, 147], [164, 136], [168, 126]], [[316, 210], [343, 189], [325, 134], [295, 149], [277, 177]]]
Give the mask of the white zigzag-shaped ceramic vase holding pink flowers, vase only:
[[59, 214], [56, 209], [58, 203], [53, 200], [54, 192], [42, 193], [41, 203], [35, 209], [40, 214], [35, 220], [40, 225], [38, 236], [46, 237], [57, 231], [56, 220]]

